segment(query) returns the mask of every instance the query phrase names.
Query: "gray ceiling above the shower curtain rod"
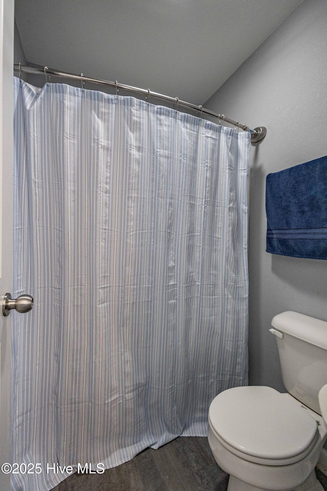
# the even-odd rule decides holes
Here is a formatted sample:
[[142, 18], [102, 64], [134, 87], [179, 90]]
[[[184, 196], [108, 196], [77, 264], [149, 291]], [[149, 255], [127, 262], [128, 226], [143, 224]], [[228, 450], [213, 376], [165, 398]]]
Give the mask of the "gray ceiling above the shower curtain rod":
[[15, 0], [26, 59], [204, 102], [303, 0]]

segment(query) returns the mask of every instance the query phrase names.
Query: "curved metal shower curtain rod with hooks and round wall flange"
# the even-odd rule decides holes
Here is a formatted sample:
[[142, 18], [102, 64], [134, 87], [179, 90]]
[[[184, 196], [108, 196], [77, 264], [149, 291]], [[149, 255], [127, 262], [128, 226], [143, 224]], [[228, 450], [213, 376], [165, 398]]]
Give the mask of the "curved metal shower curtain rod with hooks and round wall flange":
[[55, 77], [62, 77], [62, 78], [67, 78], [71, 80], [79, 80], [82, 84], [83, 87], [83, 82], [89, 82], [89, 83], [98, 83], [102, 85], [109, 85], [110, 87], [114, 87], [116, 90], [116, 93], [118, 92], [119, 89], [123, 91], [129, 91], [129, 92], [135, 92], [137, 94], [144, 94], [145, 96], [148, 97], [148, 100], [150, 97], [153, 97], [155, 99], [160, 99], [164, 101], [168, 101], [171, 103], [174, 103], [178, 106], [183, 106], [183, 107], [188, 107], [189, 109], [193, 109], [196, 111], [200, 111], [201, 115], [206, 114], [209, 116], [212, 116], [214, 118], [218, 118], [220, 120], [223, 120], [225, 123], [232, 124], [234, 126], [237, 126], [244, 131], [248, 131], [251, 133], [251, 142], [252, 143], [258, 143], [261, 142], [267, 133], [267, 129], [264, 126], [259, 126], [257, 128], [251, 129], [246, 124], [241, 124], [239, 121], [233, 121], [232, 119], [227, 118], [223, 114], [217, 114], [213, 113], [213, 111], [209, 109], [205, 109], [201, 105], [197, 106], [195, 104], [191, 104], [190, 102], [185, 102], [181, 101], [178, 99], [178, 97], [170, 97], [170, 96], [165, 96], [162, 94], [158, 94], [156, 92], [150, 91], [150, 89], [145, 89], [145, 88], [138, 88], [138, 87], [133, 87], [131, 85], [125, 85], [123, 83], [119, 83], [118, 81], [115, 82], [110, 82], [108, 80], [101, 80], [101, 79], [96, 79], [96, 78], [89, 78], [89, 77], [84, 77], [84, 75], [81, 73], [80, 75], [76, 75], [73, 73], [69, 72], [60, 72], [58, 70], [48, 68], [48, 66], [41, 66], [41, 65], [34, 65], [29, 66], [29, 65], [21, 65], [20, 63], [15, 63], [14, 64], [14, 70], [19, 72], [19, 75], [21, 73], [29, 73], [33, 75], [39, 75], [43, 74], [45, 75], [45, 80], [48, 82], [47, 75], [53, 75]]

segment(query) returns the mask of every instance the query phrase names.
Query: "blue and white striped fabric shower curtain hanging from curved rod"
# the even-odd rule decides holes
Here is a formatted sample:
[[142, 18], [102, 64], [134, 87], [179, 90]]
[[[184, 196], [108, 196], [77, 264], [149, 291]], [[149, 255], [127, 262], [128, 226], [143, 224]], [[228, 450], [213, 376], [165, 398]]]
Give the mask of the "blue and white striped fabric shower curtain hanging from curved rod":
[[214, 396], [247, 384], [250, 137], [14, 87], [14, 288], [34, 308], [13, 316], [13, 461], [38, 466], [12, 490], [45, 491], [206, 435]]

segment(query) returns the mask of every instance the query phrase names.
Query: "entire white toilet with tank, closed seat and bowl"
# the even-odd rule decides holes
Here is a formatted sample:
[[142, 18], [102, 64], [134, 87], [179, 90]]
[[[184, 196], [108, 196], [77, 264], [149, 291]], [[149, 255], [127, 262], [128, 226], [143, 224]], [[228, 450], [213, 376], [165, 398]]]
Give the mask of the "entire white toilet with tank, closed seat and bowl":
[[323, 491], [315, 465], [327, 437], [327, 322], [288, 311], [271, 324], [288, 393], [221, 392], [209, 408], [209, 445], [230, 475], [227, 491]]

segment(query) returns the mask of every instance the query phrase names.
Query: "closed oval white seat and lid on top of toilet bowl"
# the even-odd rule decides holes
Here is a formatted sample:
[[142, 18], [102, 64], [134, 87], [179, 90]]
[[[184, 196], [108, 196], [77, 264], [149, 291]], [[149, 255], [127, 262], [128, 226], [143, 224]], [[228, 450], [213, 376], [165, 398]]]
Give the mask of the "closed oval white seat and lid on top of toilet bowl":
[[261, 386], [221, 392], [209, 408], [209, 425], [227, 450], [266, 465], [303, 459], [319, 435], [317, 422], [305, 409]]

